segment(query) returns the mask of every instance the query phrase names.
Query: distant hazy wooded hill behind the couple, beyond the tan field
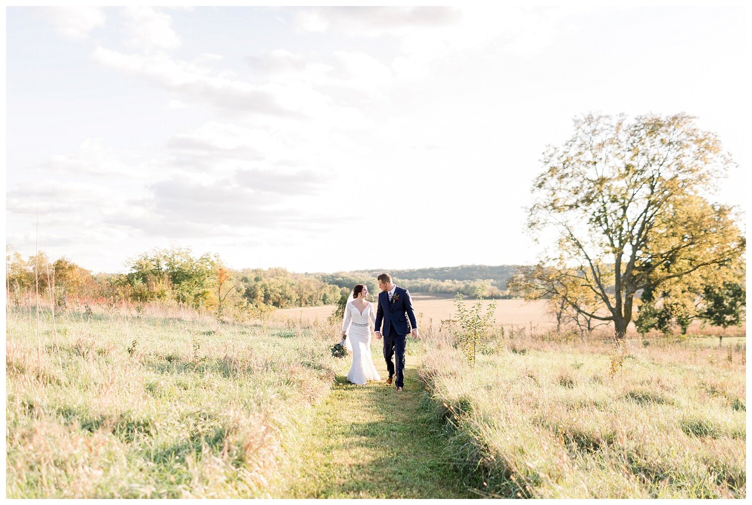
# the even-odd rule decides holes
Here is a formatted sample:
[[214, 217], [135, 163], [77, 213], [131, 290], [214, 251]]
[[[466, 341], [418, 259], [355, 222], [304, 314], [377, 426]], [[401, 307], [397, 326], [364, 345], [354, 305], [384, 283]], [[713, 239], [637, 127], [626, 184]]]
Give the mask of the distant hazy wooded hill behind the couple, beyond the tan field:
[[486, 285], [486, 294], [493, 298], [506, 298], [507, 281], [517, 271], [517, 265], [460, 265], [459, 267], [413, 268], [390, 270], [379, 268], [334, 274], [308, 274], [325, 283], [341, 288], [352, 288], [364, 283], [371, 293], [377, 292], [376, 277], [388, 272], [395, 283], [404, 284], [411, 292], [449, 293], [457, 292], [472, 296], [481, 284]]

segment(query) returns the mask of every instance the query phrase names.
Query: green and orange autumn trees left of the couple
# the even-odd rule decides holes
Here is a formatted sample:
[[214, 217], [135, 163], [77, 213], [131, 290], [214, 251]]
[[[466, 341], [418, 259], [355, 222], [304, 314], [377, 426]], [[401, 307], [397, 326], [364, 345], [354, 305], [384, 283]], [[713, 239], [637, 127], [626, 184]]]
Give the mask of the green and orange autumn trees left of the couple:
[[338, 286], [284, 268], [233, 270], [216, 254], [193, 256], [191, 249], [152, 249], [127, 262], [126, 274], [92, 274], [70, 259], [50, 262], [45, 253], [24, 259], [6, 251], [6, 289], [11, 303], [51, 293], [57, 306], [74, 300], [174, 301], [196, 309], [265, 311], [335, 304]]

